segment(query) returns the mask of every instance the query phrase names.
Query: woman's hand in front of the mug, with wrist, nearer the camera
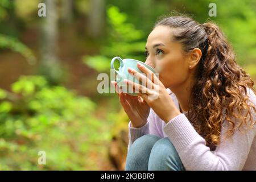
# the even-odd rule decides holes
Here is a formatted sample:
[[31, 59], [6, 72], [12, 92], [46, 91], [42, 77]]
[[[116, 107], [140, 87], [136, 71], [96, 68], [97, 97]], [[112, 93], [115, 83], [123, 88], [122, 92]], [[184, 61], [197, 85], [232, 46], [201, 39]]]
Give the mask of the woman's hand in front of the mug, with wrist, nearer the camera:
[[167, 123], [172, 118], [179, 115], [180, 111], [175, 106], [174, 101], [172, 101], [158, 77], [141, 64], [138, 64], [138, 68], [145, 73], [146, 76], [131, 68], [128, 68], [128, 71], [132, 76], [140, 80], [142, 85], [130, 80], [125, 80], [126, 84], [131, 86], [134, 90], [137, 90], [137, 93], [139, 92], [138, 95], [147, 102], [148, 106], [150, 106], [164, 122]]

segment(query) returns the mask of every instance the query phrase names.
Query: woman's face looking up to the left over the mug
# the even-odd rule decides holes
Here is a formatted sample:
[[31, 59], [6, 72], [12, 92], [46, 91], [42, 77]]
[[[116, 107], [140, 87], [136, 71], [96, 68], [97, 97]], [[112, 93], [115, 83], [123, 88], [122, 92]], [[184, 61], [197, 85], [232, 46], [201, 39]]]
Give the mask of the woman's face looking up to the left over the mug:
[[189, 77], [188, 59], [181, 43], [172, 40], [172, 28], [158, 26], [148, 35], [146, 64], [159, 73], [159, 80], [166, 88], [179, 86]]

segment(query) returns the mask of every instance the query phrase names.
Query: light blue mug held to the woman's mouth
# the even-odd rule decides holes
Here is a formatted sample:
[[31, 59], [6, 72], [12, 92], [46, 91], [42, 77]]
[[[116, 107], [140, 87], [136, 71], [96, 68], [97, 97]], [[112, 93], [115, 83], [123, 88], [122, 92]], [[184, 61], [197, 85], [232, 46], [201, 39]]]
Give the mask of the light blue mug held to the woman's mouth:
[[[114, 61], [118, 60], [120, 62], [120, 66], [118, 68], [118, 71], [114, 68]], [[121, 59], [120, 57], [114, 57], [111, 60], [110, 63], [110, 67], [112, 69], [114, 69], [115, 74], [117, 74], [117, 85], [119, 86], [119, 88], [122, 88], [124, 93], [128, 93], [131, 96], [137, 96], [138, 93], [134, 93], [131, 92], [131, 90], [129, 90], [129, 88], [127, 88], [127, 84], [125, 84], [123, 82], [123, 80], [127, 79], [127, 80], [131, 80], [137, 84], [141, 84], [141, 82], [139, 80], [137, 80], [137, 78], [133, 77], [130, 75], [130, 73], [128, 72], [128, 68], [132, 68], [135, 69], [135, 71], [139, 72], [139, 73], [143, 73], [137, 66], [137, 63], [143, 65], [144, 67], [150, 69], [153, 73], [156, 73], [155, 69], [150, 67], [150, 65], [147, 65], [146, 63], [143, 63], [142, 61], [139, 60], [135, 60], [135, 59]], [[144, 74], [144, 73], [143, 73]]]

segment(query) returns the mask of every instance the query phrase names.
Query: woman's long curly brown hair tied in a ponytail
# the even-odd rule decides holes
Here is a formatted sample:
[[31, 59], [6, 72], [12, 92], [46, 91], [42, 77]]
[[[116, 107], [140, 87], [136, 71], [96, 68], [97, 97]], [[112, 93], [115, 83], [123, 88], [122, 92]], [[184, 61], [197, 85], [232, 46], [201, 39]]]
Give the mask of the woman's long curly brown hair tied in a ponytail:
[[[213, 22], [200, 24], [188, 16], [170, 16], [156, 22], [157, 26], [177, 28], [172, 37], [180, 42], [183, 51], [199, 48], [201, 59], [195, 70], [195, 85], [189, 100], [188, 118], [197, 133], [203, 135], [207, 146], [220, 143], [221, 126], [228, 122], [228, 137], [240, 130], [243, 123], [255, 124], [248, 103], [247, 89], [254, 82], [236, 62], [236, 55], [220, 28]], [[248, 117], [249, 116], [249, 117]], [[195, 117], [195, 119], [192, 119]], [[236, 119], [240, 122], [236, 122]], [[249, 118], [250, 122], [246, 119]]]

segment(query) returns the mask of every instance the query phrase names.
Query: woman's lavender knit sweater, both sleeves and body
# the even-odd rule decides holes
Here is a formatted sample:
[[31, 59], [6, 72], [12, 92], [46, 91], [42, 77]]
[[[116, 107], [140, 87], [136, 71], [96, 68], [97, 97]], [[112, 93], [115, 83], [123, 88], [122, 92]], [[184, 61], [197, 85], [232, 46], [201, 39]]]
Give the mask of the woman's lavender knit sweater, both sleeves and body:
[[[171, 90], [167, 89], [171, 94]], [[247, 89], [250, 101], [256, 105], [253, 90]], [[170, 95], [179, 109], [175, 94]], [[256, 113], [252, 111], [254, 121]], [[222, 126], [223, 134], [228, 125]], [[242, 133], [243, 132], [243, 133]], [[256, 170], [256, 126], [247, 132], [236, 130], [234, 135], [224, 138], [214, 151], [211, 151], [187, 118], [187, 113], [177, 115], [167, 124], [150, 110], [147, 123], [140, 128], [131, 127], [129, 122], [129, 146], [139, 137], [146, 134], [168, 137], [174, 144], [181, 162], [186, 170]]]

